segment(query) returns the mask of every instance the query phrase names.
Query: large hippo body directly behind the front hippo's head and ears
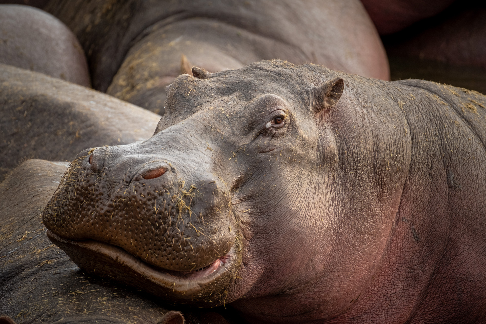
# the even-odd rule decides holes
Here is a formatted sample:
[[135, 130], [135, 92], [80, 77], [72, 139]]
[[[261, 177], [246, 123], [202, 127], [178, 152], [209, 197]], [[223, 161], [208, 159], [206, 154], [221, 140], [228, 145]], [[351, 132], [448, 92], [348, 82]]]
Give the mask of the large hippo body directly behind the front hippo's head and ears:
[[160, 115], [165, 86], [192, 65], [215, 72], [281, 58], [389, 79], [359, 0], [51, 0], [45, 10], [80, 40], [95, 89]]

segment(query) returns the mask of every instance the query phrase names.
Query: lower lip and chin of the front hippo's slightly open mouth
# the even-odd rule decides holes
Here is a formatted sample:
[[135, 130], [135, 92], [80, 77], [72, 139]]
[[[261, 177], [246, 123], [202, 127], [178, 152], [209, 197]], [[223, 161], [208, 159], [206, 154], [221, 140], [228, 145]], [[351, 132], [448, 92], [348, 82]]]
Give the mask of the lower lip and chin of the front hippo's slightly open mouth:
[[[107, 275], [164, 300], [181, 304], [222, 305], [227, 291], [218, 292], [226, 290], [234, 280], [240, 263], [240, 253], [233, 246], [228, 254], [208, 266], [192, 271], [174, 271], [150, 265], [116, 245], [95, 240], [63, 239], [49, 230], [47, 236], [84, 271]], [[215, 296], [218, 298], [215, 299]], [[210, 305], [207, 305], [208, 302]]]

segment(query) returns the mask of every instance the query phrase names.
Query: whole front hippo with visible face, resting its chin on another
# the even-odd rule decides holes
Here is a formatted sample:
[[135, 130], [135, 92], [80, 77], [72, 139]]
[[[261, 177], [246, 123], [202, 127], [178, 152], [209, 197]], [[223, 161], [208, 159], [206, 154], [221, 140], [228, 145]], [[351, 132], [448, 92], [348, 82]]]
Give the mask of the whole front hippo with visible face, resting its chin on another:
[[88, 273], [251, 323], [486, 323], [486, 97], [262, 61], [167, 89], [43, 213]]

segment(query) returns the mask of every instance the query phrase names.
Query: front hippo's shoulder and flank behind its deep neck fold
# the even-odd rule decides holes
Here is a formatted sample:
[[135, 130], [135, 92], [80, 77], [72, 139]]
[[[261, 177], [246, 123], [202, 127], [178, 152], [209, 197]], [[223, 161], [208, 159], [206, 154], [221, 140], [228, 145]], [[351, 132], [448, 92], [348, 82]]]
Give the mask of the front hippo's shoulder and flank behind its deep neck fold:
[[[479, 302], [468, 299], [474, 287], [460, 278], [477, 267], [471, 260], [482, 252], [480, 235], [464, 224], [481, 217], [476, 212], [481, 206], [471, 210], [468, 205], [485, 201], [484, 183], [478, 188], [474, 180], [486, 176], [478, 168], [486, 162], [485, 131], [479, 123], [486, 116], [482, 108], [486, 98], [431, 82], [399, 83], [406, 86], [393, 96], [412, 137], [410, 171], [382, 263], [345, 317], [360, 314], [370, 323], [378, 321], [372, 304], [387, 305], [389, 322], [406, 322], [424, 314], [443, 316], [443, 307], [449, 307], [450, 314], [467, 316]], [[471, 170], [477, 173], [471, 174]], [[480, 205], [484, 209], [484, 203]], [[476, 232], [480, 233], [478, 226]], [[471, 253], [468, 245], [474, 242], [478, 247]], [[451, 294], [463, 296], [462, 302], [434, 302], [448, 300]]]

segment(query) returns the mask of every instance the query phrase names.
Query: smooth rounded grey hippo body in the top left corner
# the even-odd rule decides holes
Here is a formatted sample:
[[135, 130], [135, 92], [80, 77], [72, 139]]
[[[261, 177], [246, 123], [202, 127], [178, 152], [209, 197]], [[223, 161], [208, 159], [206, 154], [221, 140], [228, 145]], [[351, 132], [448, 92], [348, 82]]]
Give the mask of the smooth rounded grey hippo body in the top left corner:
[[85, 54], [59, 19], [23, 5], [0, 5], [0, 63], [89, 87]]

